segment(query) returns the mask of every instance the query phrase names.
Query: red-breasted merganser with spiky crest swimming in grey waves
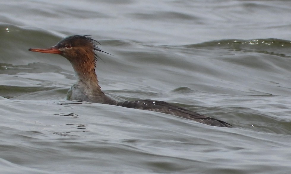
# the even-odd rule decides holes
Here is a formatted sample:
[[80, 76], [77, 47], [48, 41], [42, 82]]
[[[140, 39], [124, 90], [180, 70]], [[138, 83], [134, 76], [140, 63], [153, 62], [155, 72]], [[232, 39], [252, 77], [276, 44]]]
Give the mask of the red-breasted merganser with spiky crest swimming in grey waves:
[[97, 43], [99, 42], [88, 36], [75, 35], [62, 39], [53, 47], [30, 48], [29, 51], [59, 54], [71, 62], [76, 73], [77, 83], [69, 90], [67, 99], [162, 112], [212, 126], [231, 127], [230, 124], [219, 119], [210, 118], [164, 101], [137, 100], [118, 102], [109, 98], [102, 92], [95, 73], [97, 61], [95, 51], [104, 52], [97, 47]]

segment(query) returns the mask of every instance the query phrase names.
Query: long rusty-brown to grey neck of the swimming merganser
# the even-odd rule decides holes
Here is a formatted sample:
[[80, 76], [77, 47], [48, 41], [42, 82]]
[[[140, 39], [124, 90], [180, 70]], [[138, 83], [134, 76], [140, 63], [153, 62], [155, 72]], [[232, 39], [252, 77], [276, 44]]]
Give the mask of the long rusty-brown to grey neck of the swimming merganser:
[[77, 77], [77, 86], [90, 102], [116, 105], [118, 102], [107, 97], [98, 84], [93, 58], [70, 61]]

